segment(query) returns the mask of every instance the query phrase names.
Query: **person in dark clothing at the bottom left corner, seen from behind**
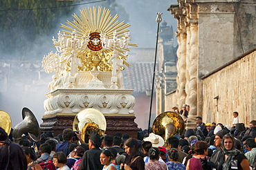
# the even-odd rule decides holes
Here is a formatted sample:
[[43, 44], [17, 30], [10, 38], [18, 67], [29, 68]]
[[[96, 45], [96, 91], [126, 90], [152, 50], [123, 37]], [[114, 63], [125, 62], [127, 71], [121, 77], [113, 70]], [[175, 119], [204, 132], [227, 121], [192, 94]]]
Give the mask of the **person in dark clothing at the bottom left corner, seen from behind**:
[[0, 127], [0, 169], [26, 170], [28, 162], [19, 144], [8, 141], [8, 134]]

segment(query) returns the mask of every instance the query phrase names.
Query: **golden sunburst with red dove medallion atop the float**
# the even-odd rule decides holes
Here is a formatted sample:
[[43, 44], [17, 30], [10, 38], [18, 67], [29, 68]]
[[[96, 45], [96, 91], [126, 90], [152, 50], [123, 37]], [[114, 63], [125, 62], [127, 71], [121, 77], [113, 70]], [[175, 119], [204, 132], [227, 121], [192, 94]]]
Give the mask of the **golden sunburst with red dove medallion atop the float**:
[[[109, 39], [113, 38], [113, 32], [116, 31], [118, 38], [125, 37], [125, 33], [129, 32], [127, 29], [130, 25], [125, 21], [119, 22], [118, 15], [111, 16], [111, 10], [102, 7], [93, 7], [80, 10], [80, 15], [73, 15], [73, 21], [67, 21], [66, 24], [61, 24], [61, 27], [65, 30], [62, 32], [67, 36], [71, 37], [71, 33], [75, 30], [77, 38], [82, 39], [83, 36], [89, 35], [90, 41], [87, 44], [86, 49], [80, 50], [77, 48], [77, 57], [81, 59], [82, 66], [79, 70], [88, 71], [95, 67], [95, 60], [102, 71], [111, 71], [112, 67], [107, 63], [109, 56], [113, 54], [113, 46], [111, 48], [102, 48], [100, 41], [100, 34], [107, 35]], [[55, 46], [60, 44], [55, 43]], [[137, 44], [129, 43], [128, 46], [137, 46]], [[65, 56], [71, 54], [71, 50], [66, 50]], [[122, 59], [126, 66], [129, 64], [126, 62], [127, 55], [125, 55], [127, 49], [121, 49], [117, 46], [118, 58]], [[93, 65], [94, 64], [94, 65]], [[69, 64], [68, 64], [69, 65]]]

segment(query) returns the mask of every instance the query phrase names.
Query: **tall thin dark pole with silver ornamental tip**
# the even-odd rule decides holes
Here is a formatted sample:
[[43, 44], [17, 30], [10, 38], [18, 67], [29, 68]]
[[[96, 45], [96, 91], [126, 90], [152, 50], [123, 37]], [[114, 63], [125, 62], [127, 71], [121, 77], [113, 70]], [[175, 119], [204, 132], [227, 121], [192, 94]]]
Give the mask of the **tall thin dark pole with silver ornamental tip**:
[[161, 15], [162, 12], [156, 13], [156, 22], [157, 22], [157, 32], [156, 32], [156, 51], [155, 51], [155, 60], [154, 60], [154, 70], [153, 70], [153, 79], [152, 79], [152, 89], [151, 89], [151, 99], [150, 99], [150, 108], [149, 108], [149, 126], [148, 126], [148, 135], [150, 130], [150, 120], [152, 115], [152, 103], [153, 103], [153, 93], [154, 93], [154, 81], [155, 81], [155, 75], [156, 75], [156, 56], [157, 56], [157, 46], [158, 46], [158, 35], [159, 35], [159, 25], [162, 21]]

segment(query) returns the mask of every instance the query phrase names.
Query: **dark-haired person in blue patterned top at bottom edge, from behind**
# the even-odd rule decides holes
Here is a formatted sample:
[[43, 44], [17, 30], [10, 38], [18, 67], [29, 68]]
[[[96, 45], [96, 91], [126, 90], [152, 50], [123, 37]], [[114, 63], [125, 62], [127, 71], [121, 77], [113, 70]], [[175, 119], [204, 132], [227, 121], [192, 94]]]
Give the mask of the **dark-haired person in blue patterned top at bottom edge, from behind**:
[[170, 149], [168, 152], [169, 162], [166, 162], [168, 170], [185, 170], [185, 165], [178, 161], [179, 153], [175, 148]]

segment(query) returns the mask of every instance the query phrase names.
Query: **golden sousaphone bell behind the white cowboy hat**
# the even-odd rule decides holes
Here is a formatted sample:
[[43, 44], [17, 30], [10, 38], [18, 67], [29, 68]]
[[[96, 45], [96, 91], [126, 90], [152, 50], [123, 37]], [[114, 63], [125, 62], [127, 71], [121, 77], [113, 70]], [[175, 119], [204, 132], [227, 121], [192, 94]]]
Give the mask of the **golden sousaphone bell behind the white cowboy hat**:
[[185, 123], [179, 113], [167, 111], [156, 117], [152, 129], [153, 133], [161, 135], [165, 140], [165, 144], [167, 144], [167, 139], [173, 135], [183, 135], [185, 131]]

